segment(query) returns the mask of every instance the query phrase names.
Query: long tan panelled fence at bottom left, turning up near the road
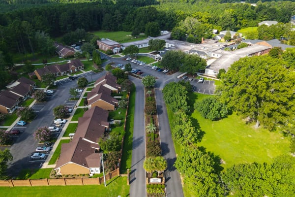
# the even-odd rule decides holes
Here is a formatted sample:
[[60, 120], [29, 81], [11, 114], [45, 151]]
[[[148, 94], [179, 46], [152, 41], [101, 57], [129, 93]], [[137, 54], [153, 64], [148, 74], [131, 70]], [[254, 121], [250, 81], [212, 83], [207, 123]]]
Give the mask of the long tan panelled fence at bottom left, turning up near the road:
[[[106, 181], [119, 176], [119, 168], [106, 174]], [[59, 179], [27, 179], [27, 180], [0, 180], [0, 187], [18, 186], [64, 186], [64, 185], [100, 185], [104, 182], [99, 178], [59, 178]]]

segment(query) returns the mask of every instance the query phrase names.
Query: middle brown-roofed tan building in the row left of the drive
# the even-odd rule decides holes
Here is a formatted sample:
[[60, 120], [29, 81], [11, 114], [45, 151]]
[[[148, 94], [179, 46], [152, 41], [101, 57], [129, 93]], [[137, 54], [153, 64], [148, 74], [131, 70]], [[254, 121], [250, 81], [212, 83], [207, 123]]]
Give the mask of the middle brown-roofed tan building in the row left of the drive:
[[118, 100], [111, 97], [112, 91], [99, 84], [87, 95], [88, 107], [100, 107], [105, 110], [115, 110], [118, 106]]

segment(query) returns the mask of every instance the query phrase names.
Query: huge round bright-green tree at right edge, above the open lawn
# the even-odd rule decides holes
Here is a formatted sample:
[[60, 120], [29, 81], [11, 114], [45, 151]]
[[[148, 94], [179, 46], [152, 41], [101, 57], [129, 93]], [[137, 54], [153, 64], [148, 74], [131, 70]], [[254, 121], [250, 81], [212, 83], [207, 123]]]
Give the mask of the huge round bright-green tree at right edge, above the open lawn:
[[270, 130], [294, 122], [295, 73], [269, 56], [242, 58], [222, 75], [221, 101]]

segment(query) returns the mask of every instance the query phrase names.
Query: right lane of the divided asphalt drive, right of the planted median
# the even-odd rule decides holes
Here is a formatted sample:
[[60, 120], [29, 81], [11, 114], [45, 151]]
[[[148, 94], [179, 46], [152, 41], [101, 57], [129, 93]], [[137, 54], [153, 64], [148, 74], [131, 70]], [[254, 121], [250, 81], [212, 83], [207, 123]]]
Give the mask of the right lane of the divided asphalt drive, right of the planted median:
[[183, 197], [180, 175], [173, 166], [176, 161], [176, 153], [172, 141], [171, 130], [167, 115], [166, 105], [162, 91], [156, 89], [156, 102], [159, 120], [162, 156], [167, 160], [165, 170], [167, 197]]

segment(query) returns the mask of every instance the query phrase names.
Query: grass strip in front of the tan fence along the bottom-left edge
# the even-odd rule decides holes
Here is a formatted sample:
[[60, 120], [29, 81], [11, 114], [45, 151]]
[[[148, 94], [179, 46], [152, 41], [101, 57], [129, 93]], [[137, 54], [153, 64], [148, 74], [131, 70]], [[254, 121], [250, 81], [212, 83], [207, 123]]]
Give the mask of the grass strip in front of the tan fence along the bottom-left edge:
[[[127, 177], [115, 177], [101, 185], [0, 187], [3, 197], [128, 197]], [[87, 194], [87, 195], [86, 195]]]

